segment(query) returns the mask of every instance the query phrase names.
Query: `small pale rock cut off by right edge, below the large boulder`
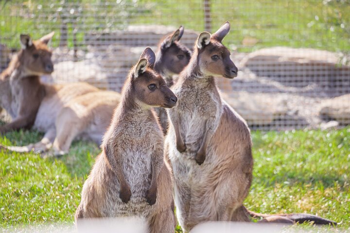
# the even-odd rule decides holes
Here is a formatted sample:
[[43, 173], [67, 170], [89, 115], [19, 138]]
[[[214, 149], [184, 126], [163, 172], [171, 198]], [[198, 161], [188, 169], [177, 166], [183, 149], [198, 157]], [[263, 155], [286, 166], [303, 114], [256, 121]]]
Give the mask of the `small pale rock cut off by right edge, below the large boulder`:
[[335, 97], [322, 103], [320, 115], [323, 118], [335, 119], [340, 124], [350, 124], [350, 94]]

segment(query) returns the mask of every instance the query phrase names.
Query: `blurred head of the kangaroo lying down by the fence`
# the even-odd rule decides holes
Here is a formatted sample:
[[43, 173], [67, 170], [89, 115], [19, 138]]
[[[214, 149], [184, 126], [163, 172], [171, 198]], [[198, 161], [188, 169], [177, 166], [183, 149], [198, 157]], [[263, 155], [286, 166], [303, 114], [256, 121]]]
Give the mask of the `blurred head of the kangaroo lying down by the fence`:
[[32, 40], [29, 35], [20, 35], [22, 49], [18, 52], [18, 66], [27, 75], [51, 74], [53, 72], [52, 51], [47, 46], [53, 34], [54, 32], [49, 33], [38, 40]]

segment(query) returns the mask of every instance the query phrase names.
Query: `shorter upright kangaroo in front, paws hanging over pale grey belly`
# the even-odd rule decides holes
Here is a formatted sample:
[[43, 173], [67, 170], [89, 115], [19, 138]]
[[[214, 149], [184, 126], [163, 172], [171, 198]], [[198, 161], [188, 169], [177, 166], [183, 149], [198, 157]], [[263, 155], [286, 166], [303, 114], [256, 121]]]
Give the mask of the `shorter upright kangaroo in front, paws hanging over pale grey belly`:
[[163, 155], [163, 133], [152, 107], [172, 108], [177, 98], [154, 70], [146, 48], [129, 72], [122, 99], [84, 183], [75, 220], [143, 217], [151, 233], [175, 230], [171, 173]]

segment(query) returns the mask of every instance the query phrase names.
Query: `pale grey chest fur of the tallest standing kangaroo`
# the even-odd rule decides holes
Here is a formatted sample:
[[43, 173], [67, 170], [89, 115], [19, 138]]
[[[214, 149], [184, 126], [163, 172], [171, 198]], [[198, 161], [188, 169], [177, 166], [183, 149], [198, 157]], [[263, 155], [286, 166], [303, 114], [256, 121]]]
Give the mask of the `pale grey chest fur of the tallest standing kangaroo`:
[[209, 132], [210, 139], [220, 122], [221, 100], [213, 82], [211, 79], [187, 80], [174, 87], [178, 104], [176, 108], [169, 109], [168, 113], [171, 119], [176, 118], [186, 144], [184, 157], [193, 158], [201, 146], [205, 132]]

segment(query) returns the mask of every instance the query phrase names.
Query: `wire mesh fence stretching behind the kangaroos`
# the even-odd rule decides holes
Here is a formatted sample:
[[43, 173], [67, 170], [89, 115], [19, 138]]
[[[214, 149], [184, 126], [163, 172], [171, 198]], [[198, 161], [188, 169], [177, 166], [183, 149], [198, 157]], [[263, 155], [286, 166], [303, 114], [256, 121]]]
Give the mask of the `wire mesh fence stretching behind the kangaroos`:
[[251, 129], [350, 124], [349, 0], [0, 0], [0, 70], [20, 33], [54, 31], [55, 71], [44, 82], [120, 91], [145, 47], [156, 50], [183, 25], [181, 42], [192, 48], [226, 20], [223, 42], [240, 71], [217, 82]]

